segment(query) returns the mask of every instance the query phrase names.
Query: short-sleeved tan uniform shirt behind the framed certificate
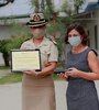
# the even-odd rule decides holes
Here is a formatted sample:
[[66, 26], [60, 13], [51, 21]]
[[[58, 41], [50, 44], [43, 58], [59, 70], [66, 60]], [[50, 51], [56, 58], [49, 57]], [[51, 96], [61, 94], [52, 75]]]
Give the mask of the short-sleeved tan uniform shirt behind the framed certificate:
[[46, 37], [43, 38], [42, 43], [38, 46], [34, 45], [33, 38], [24, 42], [21, 45], [21, 50], [36, 50], [36, 48], [41, 51], [42, 68], [47, 62], [58, 61], [58, 51], [57, 51], [56, 45]]

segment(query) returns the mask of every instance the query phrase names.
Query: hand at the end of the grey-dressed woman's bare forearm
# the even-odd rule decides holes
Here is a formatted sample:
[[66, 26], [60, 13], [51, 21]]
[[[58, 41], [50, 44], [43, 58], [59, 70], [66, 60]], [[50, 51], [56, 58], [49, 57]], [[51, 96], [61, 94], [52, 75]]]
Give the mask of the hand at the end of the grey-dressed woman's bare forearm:
[[79, 77], [80, 70], [78, 70], [75, 67], [68, 68], [70, 70], [66, 72], [67, 76], [72, 76], [72, 77]]

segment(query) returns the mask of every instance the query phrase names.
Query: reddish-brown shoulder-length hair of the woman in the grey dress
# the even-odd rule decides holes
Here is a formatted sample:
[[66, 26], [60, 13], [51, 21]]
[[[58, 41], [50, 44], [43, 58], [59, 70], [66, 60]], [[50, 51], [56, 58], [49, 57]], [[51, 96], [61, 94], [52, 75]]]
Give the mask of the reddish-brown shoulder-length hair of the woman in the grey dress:
[[68, 44], [68, 33], [74, 29], [81, 35], [81, 37], [82, 37], [81, 44], [87, 45], [88, 34], [85, 31], [85, 29], [82, 28], [82, 25], [80, 25], [79, 23], [73, 23], [68, 26], [66, 35], [65, 35], [65, 43]]

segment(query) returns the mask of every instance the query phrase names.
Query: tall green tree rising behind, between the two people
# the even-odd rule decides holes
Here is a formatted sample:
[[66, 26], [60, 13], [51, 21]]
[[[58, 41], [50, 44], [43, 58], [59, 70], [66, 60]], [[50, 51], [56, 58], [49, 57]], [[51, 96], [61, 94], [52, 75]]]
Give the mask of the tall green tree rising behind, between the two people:
[[[52, 35], [55, 35], [54, 33], [58, 33], [58, 35], [56, 35], [56, 36], [58, 36], [58, 38], [56, 40], [56, 37], [55, 37], [55, 40], [57, 42], [57, 47], [58, 47], [59, 57], [61, 57], [62, 52], [63, 52], [63, 36], [64, 36], [63, 34], [66, 31], [63, 25], [66, 25], [66, 23], [69, 23], [72, 21], [72, 19], [69, 19], [67, 16], [66, 18], [58, 18], [57, 16], [58, 12], [55, 12], [54, 4], [53, 4], [52, 0], [41, 0], [42, 1], [41, 3], [38, 2], [40, 0], [36, 0], [36, 1], [37, 1], [37, 7], [36, 7], [36, 2], [32, 2], [32, 4], [35, 8], [38, 8], [37, 11], [35, 11], [35, 12], [41, 11], [40, 8], [41, 8], [41, 3], [42, 3], [43, 13], [45, 14], [45, 18], [47, 18], [50, 20], [50, 23], [47, 26], [47, 35], [50, 36], [50, 38], [52, 38], [51, 37]], [[70, 10], [69, 6], [67, 6], [67, 7], [68, 7], [68, 9], [66, 9], [64, 11], [66, 13], [68, 12], [68, 16], [70, 16], [73, 11]], [[64, 6], [64, 8], [67, 8], [67, 7]]]

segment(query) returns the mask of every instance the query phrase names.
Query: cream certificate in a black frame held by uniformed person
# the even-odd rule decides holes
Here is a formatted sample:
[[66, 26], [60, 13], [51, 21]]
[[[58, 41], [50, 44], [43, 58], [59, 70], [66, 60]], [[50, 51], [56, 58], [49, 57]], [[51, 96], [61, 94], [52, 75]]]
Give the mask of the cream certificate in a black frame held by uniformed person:
[[41, 70], [40, 50], [13, 50], [11, 51], [12, 72]]

